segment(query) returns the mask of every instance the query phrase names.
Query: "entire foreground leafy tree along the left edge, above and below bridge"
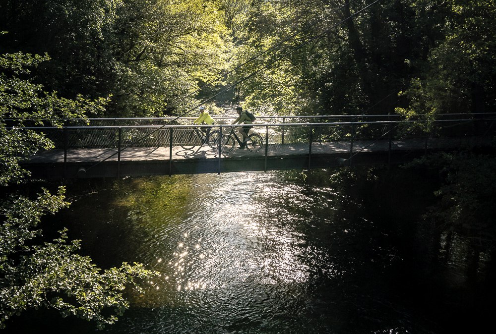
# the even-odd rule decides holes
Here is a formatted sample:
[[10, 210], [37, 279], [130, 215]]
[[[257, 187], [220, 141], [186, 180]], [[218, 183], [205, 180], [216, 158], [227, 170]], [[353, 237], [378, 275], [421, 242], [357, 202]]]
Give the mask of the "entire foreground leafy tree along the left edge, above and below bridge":
[[[25, 124], [57, 118], [82, 117], [104, 108], [105, 99], [88, 101], [60, 98], [29, 80], [29, 67], [48, 56], [16, 53], [0, 56], [0, 187], [27, 182], [19, 162], [53, 143]], [[67, 242], [66, 229], [48, 240], [40, 228], [42, 217], [68, 205], [64, 187], [52, 195], [46, 189], [31, 199], [19, 191], [0, 198], [0, 327], [28, 308], [54, 308], [62, 316], [93, 320], [98, 327], [112, 324], [128, 307], [127, 289], [156, 275], [141, 264], [123, 263], [101, 271], [91, 259], [77, 253], [80, 241]]]

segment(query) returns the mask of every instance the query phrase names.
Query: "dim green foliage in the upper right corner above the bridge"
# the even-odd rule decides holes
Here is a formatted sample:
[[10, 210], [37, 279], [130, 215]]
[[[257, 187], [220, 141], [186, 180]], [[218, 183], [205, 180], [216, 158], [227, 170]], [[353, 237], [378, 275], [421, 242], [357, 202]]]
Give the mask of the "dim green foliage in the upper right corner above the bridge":
[[401, 113], [485, 112], [495, 106], [496, 29], [491, 22], [496, 19], [496, 3], [446, 4], [449, 12], [439, 22], [445, 38], [431, 50], [422, 76], [405, 91], [409, 106], [398, 109]]

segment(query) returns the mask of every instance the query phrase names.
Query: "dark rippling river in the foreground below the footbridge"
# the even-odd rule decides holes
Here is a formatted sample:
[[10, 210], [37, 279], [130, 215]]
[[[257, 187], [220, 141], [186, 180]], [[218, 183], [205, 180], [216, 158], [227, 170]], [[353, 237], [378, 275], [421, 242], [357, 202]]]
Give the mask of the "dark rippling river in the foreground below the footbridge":
[[474, 271], [473, 240], [422, 218], [435, 177], [393, 168], [331, 182], [335, 172], [75, 181], [56, 225], [100, 268], [141, 262], [162, 276], [104, 330], [32, 321], [66, 334], [441, 334], [489, 323], [490, 254]]

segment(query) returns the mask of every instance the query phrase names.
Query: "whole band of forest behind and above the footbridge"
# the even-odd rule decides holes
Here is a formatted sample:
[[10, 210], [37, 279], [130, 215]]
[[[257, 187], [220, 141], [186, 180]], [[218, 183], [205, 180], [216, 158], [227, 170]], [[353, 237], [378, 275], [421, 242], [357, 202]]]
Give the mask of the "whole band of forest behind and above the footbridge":
[[[484, 112], [494, 0], [1, 0], [0, 48], [102, 116]], [[214, 97], [214, 98], [212, 98]], [[211, 100], [210, 100], [211, 99]]]

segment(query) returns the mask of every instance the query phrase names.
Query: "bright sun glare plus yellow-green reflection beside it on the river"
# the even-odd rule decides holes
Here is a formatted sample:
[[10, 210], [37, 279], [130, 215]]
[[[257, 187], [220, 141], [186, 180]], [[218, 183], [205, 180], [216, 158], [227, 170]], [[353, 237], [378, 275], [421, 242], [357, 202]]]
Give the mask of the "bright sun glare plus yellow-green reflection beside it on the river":
[[[253, 182], [254, 175], [192, 176], [181, 189], [167, 187], [167, 178], [162, 179], [165, 185], [152, 185], [151, 181], [132, 184], [136, 191], [126, 192], [128, 197], [119, 203], [132, 213], [129, 223], [147, 226], [140, 256], [145, 252], [145, 264], [163, 273], [162, 281], [154, 282], [153, 288], [162, 295], [173, 295], [182, 290], [227, 289], [247, 281], [280, 284], [308, 279], [309, 266], [302, 262], [296, 247], [305, 243], [304, 235], [292, 223], [284, 224], [296, 217], [290, 213], [281, 217], [277, 208], [266, 205], [274, 201], [274, 194], [281, 199], [288, 194], [301, 197], [300, 190], [295, 185], [274, 187], [273, 182]], [[152, 197], [151, 186], [158, 189], [151, 191]], [[179, 206], [181, 194], [190, 200]], [[164, 208], [163, 202], [175, 210], [157, 213], [157, 208]], [[296, 202], [304, 200], [297, 198]], [[150, 209], [154, 212], [148, 213]], [[180, 224], [178, 216], [182, 217]], [[164, 248], [175, 251], [167, 256]], [[147, 293], [137, 302], [153, 306], [167, 303], [167, 298], [157, 297]]]

